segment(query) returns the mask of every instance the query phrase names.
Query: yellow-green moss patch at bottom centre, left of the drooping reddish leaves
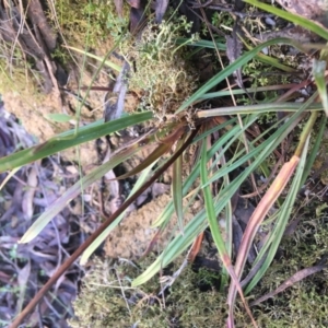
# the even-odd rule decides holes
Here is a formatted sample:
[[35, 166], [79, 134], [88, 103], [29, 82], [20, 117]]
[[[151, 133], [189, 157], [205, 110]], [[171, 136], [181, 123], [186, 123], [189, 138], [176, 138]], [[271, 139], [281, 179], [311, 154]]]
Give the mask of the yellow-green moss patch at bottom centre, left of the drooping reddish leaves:
[[84, 278], [74, 303], [80, 320], [71, 320], [71, 326], [131, 327], [138, 323], [142, 328], [223, 327], [225, 296], [214, 285], [200, 291], [203, 272], [200, 276], [190, 268], [184, 270], [164, 300], [157, 295], [161, 285], [155, 279], [141, 289], [130, 288], [132, 279], [148, 265], [150, 259], [140, 269], [129, 262], [95, 259], [94, 269]]

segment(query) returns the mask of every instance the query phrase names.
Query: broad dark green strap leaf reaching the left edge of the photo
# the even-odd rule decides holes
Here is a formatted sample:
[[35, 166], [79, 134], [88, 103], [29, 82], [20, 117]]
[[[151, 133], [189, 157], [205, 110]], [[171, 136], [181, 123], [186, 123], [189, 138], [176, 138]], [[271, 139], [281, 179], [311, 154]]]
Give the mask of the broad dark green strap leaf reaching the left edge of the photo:
[[106, 134], [122, 130], [129, 126], [143, 122], [152, 118], [151, 112], [131, 115], [113, 121], [83, 127], [75, 133], [74, 130], [59, 134], [40, 145], [16, 152], [0, 159], [0, 173], [23, 166], [31, 162], [47, 157], [62, 150], [79, 145], [83, 142], [95, 140]]

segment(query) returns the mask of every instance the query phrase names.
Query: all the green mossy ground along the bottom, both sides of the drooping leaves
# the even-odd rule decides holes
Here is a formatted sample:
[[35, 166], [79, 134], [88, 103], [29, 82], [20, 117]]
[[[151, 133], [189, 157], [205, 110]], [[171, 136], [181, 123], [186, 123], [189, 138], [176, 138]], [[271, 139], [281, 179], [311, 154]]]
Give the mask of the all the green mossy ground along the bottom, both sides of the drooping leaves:
[[[259, 285], [247, 295], [249, 301], [273, 291], [297, 271], [315, 266], [327, 254], [328, 220], [325, 216], [306, 219], [311, 212], [308, 209], [295, 234], [283, 241], [279, 257]], [[79, 320], [71, 320], [72, 327], [131, 327], [136, 323], [144, 328], [224, 327], [226, 291], [218, 290], [219, 273], [203, 268], [195, 272], [187, 267], [163, 300], [156, 295], [161, 285], [155, 279], [140, 289], [130, 288], [133, 278], [152, 260], [148, 258], [136, 268], [129, 262], [95, 258], [94, 269], [85, 277], [74, 303]], [[176, 263], [165, 274], [177, 268]], [[253, 307], [259, 327], [327, 327], [327, 278], [328, 271], [320, 271]], [[242, 305], [235, 315], [236, 327], [250, 327]]]

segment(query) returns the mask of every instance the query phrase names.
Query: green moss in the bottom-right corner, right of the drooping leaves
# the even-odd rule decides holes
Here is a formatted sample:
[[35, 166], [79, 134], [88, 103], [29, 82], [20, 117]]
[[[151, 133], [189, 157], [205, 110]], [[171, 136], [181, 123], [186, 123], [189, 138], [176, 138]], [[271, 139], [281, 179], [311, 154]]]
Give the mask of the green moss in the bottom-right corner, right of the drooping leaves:
[[[325, 216], [313, 215], [312, 202], [308, 213], [300, 223], [293, 237], [281, 244], [280, 258], [269, 268], [255, 293], [262, 295], [280, 285], [295, 272], [317, 265], [327, 256], [328, 223]], [[282, 294], [256, 306], [254, 313], [260, 327], [326, 327], [328, 325], [327, 269], [295, 283]]]

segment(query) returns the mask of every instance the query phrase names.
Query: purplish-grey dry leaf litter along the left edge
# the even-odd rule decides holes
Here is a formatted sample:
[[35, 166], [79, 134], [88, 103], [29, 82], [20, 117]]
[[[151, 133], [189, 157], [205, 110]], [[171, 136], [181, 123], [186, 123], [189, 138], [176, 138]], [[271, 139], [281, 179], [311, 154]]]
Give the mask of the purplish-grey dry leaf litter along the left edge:
[[[34, 144], [34, 139], [16, 118], [0, 107], [0, 150], [5, 156]], [[0, 183], [7, 174], [1, 174]], [[54, 202], [62, 189], [78, 175], [70, 175], [59, 157], [52, 156], [20, 168], [2, 187], [0, 198], [0, 320], [8, 326], [54, 274], [58, 266], [85, 238], [79, 229], [79, 218], [71, 211], [57, 215], [28, 245], [17, 241], [25, 230]], [[85, 213], [86, 214], [86, 213]], [[71, 268], [45, 295], [24, 323], [25, 327], [68, 327], [73, 315], [72, 301], [78, 294], [78, 281], [84, 269]]]

